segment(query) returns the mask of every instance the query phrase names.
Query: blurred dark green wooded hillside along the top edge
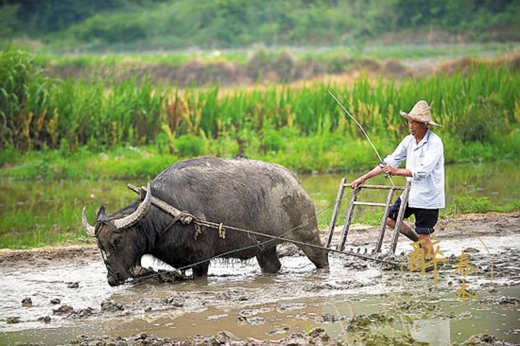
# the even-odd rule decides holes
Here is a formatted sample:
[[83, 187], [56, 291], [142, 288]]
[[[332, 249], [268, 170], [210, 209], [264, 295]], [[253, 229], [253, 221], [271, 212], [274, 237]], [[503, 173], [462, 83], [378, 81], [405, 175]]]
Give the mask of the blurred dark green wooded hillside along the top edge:
[[518, 0], [3, 0], [4, 42], [83, 50], [518, 42]]

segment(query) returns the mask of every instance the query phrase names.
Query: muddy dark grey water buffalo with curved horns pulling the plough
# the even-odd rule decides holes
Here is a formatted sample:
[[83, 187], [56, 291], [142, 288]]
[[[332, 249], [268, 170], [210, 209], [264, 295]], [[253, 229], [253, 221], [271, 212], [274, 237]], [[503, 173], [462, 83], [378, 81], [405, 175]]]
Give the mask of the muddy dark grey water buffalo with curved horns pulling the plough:
[[[211, 227], [197, 232], [193, 223], [173, 223], [173, 216], [150, 203], [150, 193], [200, 220], [223, 223], [262, 234], [319, 245], [313, 202], [291, 171], [278, 164], [250, 159], [204, 157], [187, 159], [166, 168], [148, 184], [146, 198], [114, 214], [102, 206], [96, 226], [83, 209], [83, 228], [96, 236], [108, 270], [108, 284], [116, 286], [132, 276], [143, 254], [152, 254], [175, 268], [191, 266], [193, 277], [205, 277], [211, 257], [257, 261], [264, 273], [276, 273], [279, 240], [227, 230], [225, 237]], [[300, 226], [301, 227], [298, 227]], [[165, 231], [166, 230], [166, 231]], [[271, 238], [272, 239], [272, 238]], [[326, 250], [297, 245], [318, 268], [329, 265]], [[236, 249], [243, 249], [234, 251]]]

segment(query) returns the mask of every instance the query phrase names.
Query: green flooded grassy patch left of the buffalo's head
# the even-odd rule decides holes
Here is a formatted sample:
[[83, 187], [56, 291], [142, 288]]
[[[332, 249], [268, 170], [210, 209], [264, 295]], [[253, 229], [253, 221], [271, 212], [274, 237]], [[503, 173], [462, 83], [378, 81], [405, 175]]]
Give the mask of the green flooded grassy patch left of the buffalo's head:
[[[95, 188], [92, 188], [95, 186]], [[128, 196], [123, 184], [114, 186], [110, 182], [66, 181], [61, 184], [38, 180], [12, 182], [8, 185], [8, 196], [2, 196], [4, 203], [0, 218], [0, 248], [32, 248], [65, 243], [92, 243], [92, 239], [80, 227], [83, 206], [87, 206], [89, 217], [93, 215], [98, 201], [96, 195], [114, 189], [120, 196]], [[116, 198], [116, 197], [113, 197]], [[112, 205], [117, 201], [112, 199]], [[96, 205], [96, 206], [94, 206]], [[79, 218], [79, 220], [78, 220]]]

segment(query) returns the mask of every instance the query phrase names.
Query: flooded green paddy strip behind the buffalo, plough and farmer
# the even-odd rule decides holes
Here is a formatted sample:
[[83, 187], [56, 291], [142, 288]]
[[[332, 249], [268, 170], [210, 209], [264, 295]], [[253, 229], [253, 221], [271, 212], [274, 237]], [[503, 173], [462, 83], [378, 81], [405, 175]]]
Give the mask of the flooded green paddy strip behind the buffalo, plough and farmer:
[[[494, 205], [520, 199], [520, 160], [457, 164], [446, 167], [447, 208], [453, 205], [454, 196], [488, 198]], [[345, 178], [352, 181], [361, 175], [347, 173]], [[338, 185], [343, 175], [317, 174], [300, 175], [305, 189], [314, 201], [318, 211], [318, 223], [327, 227], [331, 218], [332, 205], [336, 200]], [[397, 185], [404, 179], [394, 177]], [[126, 187], [128, 183], [146, 186], [146, 181], [101, 180], [101, 181], [40, 181], [0, 179], [0, 248], [6, 244], [15, 247], [30, 244], [36, 246], [49, 237], [60, 242], [60, 236], [71, 239], [83, 234], [78, 221], [83, 207], [87, 208], [87, 218], [93, 220], [100, 205], [106, 205], [112, 212], [125, 207], [135, 200], [136, 195]], [[382, 176], [370, 180], [370, 184], [390, 184]], [[345, 193], [343, 212], [348, 207], [349, 191]], [[385, 202], [385, 191], [363, 191], [361, 200]], [[328, 208], [328, 209], [327, 209]], [[363, 209], [364, 208], [364, 209]], [[363, 214], [381, 212], [373, 207], [358, 207], [354, 218]], [[322, 213], [322, 211], [324, 211]], [[24, 239], [19, 230], [31, 230], [31, 239]], [[17, 239], [12, 241], [12, 239]], [[28, 238], [28, 237], [27, 237]], [[11, 245], [13, 246], [13, 245]]]

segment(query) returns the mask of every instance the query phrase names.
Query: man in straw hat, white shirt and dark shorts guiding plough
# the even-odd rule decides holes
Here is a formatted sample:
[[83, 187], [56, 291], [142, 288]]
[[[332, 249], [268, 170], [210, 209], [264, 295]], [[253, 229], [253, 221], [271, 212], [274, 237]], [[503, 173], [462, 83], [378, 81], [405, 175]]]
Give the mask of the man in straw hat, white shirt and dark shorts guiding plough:
[[[400, 232], [413, 241], [424, 239], [424, 248], [434, 254], [430, 234], [435, 232], [433, 227], [437, 223], [439, 209], [444, 208], [444, 146], [440, 137], [428, 126], [442, 125], [432, 121], [430, 107], [422, 100], [413, 106], [410, 113], [401, 111], [401, 115], [408, 119], [410, 135], [404, 137], [395, 151], [385, 157], [381, 166], [361, 175], [350, 187], [356, 189], [367, 179], [381, 173], [406, 177], [412, 184], [404, 218], [415, 215], [415, 232], [406, 223], [401, 224]], [[398, 168], [404, 160], [406, 168]], [[390, 208], [386, 220], [389, 227], [395, 227], [400, 205], [401, 197]]]

